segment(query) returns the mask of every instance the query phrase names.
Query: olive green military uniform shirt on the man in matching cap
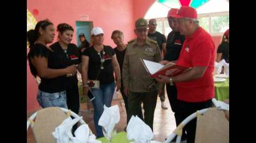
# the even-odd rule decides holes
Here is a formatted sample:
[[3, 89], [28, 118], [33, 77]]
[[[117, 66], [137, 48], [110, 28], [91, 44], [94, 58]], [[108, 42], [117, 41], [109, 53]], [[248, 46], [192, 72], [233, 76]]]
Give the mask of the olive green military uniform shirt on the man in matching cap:
[[156, 90], [162, 89], [164, 84], [159, 84], [149, 73], [141, 61], [142, 59], [152, 62], [162, 60], [157, 42], [147, 37], [144, 45], [137, 45], [137, 39], [128, 42], [124, 63], [122, 67], [122, 80], [124, 88], [132, 92], [151, 92], [149, 85], [155, 85]]

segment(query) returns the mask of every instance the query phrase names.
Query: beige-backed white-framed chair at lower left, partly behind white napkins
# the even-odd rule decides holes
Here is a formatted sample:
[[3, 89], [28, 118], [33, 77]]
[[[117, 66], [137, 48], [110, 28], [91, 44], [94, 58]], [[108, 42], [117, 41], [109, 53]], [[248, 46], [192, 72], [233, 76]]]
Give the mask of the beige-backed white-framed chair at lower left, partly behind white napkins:
[[[27, 129], [30, 125], [36, 142], [55, 143], [56, 139], [52, 136], [52, 132], [64, 119], [69, 118], [69, 116], [79, 118], [76, 113], [69, 109], [59, 107], [43, 108], [27, 119]], [[79, 123], [86, 124], [83, 119], [80, 119]], [[91, 130], [90, 134], [92, 134]]]

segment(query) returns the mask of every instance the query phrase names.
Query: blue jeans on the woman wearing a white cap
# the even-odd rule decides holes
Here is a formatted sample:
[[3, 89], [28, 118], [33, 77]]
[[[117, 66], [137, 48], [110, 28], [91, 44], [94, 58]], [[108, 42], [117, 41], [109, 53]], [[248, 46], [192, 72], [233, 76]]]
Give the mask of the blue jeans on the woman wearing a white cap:
[[94, 126], [98, 137], [103, 137], [102, 126], [99, 126], [99, 118], [104, 111], [104, 104], [107, 107], [111, 106], [113, 94], [115, 90], [115, 83], [109, 83], [107, 85], [100, 85], [99, 89], [91, 89], [92, 94], [95, 96], [94, 100], [92, 100], [92, 104], [94, 106]]

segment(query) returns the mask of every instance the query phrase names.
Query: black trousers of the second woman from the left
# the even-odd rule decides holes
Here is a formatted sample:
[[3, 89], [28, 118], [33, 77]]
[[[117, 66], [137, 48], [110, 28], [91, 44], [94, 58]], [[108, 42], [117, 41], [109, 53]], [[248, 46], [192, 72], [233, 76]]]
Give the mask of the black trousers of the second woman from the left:
[[[78, 114], [80, 102], [79, 102], [79, 91], [78, 91], [77, 84], [71, 84], [67, 86], [66, 93], [67, 93], [67, 108], [71, 109], [71, 111]], [[74, 124], [72, 128], [72, 132], [74, 133], [76, 129], [77, 129], [77, 124]]]

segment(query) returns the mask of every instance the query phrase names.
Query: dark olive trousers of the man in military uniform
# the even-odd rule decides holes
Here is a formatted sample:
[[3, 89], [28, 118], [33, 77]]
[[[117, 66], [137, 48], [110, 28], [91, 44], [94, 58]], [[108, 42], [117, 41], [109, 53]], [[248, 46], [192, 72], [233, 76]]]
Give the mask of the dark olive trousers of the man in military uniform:
[[[149, 125], [153, 131], [154, 113], [155, 106], [157, 104], [157, 91], [147, 92], [147, 93], [135, 93], [129, 91], [128, 95], [128, 120], [132, 115], [139, 115], [141, 112], [141, 102], [144, 108], [144, 122]], [[128, 121], [129, 122], [129, 121]]]

